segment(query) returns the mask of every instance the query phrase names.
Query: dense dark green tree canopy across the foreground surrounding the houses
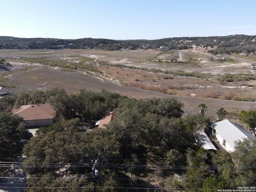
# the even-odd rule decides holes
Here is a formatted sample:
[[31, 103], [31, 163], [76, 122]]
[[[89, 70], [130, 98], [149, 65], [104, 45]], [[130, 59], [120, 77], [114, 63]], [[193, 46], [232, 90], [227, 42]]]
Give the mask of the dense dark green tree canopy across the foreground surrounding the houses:
[[[1, 100], [0, 150], [4, 157], [18, 157], [27, 139], [22, 119], [5, 111], [19, 106], [19, 102], [51, 103], [58, 120], [40, 128], [37, 137], [23, 148], [25, 171], [37, 178], [36, 182], [28, 179], [28, 187], [64, 187], [60, 191], [92, 191], [94, 187], [97, 191], [123, 191], [115, 187], [127, 186], [212, 191], [253, 186], [255, 182], [252, 178], [256, 173], [251, 169], [256, 163], [255, 140], [237, 142], [231, 154], [204, 150], [196, 144], [194, 133], [210, 133], [209, 118], [197, 111], [182, 116], [183, 104], [176, 99], [135, 100], [107, 91], [67, 94], [63, 89], [52, 89]], [[95, 122], [110, 111], [115, 111], [118, 120], [104, 129], [95, 128]], [[96, 159], [97, 177], [92, 171]]]

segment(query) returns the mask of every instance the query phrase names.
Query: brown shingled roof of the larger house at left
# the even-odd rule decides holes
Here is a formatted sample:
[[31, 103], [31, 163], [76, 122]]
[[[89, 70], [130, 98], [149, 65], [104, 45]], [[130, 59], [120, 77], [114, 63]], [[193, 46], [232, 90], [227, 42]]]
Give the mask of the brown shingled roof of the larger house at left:
[[50, 104], [24, 105], [19, 108], [12, 109], [12, 113], [23, 117], [25, 121], [54, 117], [54, 110]]

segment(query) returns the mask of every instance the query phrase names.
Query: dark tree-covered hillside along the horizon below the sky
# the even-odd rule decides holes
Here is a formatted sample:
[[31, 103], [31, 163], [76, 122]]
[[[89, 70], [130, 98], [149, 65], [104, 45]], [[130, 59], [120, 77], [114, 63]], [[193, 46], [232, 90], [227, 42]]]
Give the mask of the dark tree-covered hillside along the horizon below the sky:
[[17, 38], [0, 36], [0, 49], [188, 49], [193, 45], [214, 47], [212, 53], [254, 52], [256, 36], [229, 35], [212, 37], [173, 37], [156, 40], [112, 40], [98, 38], [57, 39], [57, 38]]

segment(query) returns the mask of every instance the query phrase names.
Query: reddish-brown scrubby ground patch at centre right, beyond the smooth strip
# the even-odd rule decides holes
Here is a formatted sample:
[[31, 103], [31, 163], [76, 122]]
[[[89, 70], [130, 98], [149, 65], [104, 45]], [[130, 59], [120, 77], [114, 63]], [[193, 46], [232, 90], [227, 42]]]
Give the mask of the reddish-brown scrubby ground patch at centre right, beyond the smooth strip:
[[136, 86], [142, 89], [158, 91], [162, 93], [181, 95], [189, 97], [196, 94], [196, 97], [219, 98], [231, 100], [233, 97], [255, 97], [255, 88], [243, 85], [218, 81], [206, 81], [194, 77], [173, 76], [168, 74], [148, 73], [147, 71], [125, 69], [119, 67], [100, 67], [100, 70], [107, 77], [119, 79], [124, 85]]

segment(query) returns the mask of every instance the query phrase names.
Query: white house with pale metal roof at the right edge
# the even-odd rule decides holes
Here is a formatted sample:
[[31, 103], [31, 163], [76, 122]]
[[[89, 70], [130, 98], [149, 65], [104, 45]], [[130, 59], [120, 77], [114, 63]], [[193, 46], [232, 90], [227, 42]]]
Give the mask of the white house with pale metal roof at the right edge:
[[242, 126], [225, 119], [212, 125], [213, 132], [220, 145], [229, 152], [235, 150], [235, 142], [246, 138], [256, 139]]

